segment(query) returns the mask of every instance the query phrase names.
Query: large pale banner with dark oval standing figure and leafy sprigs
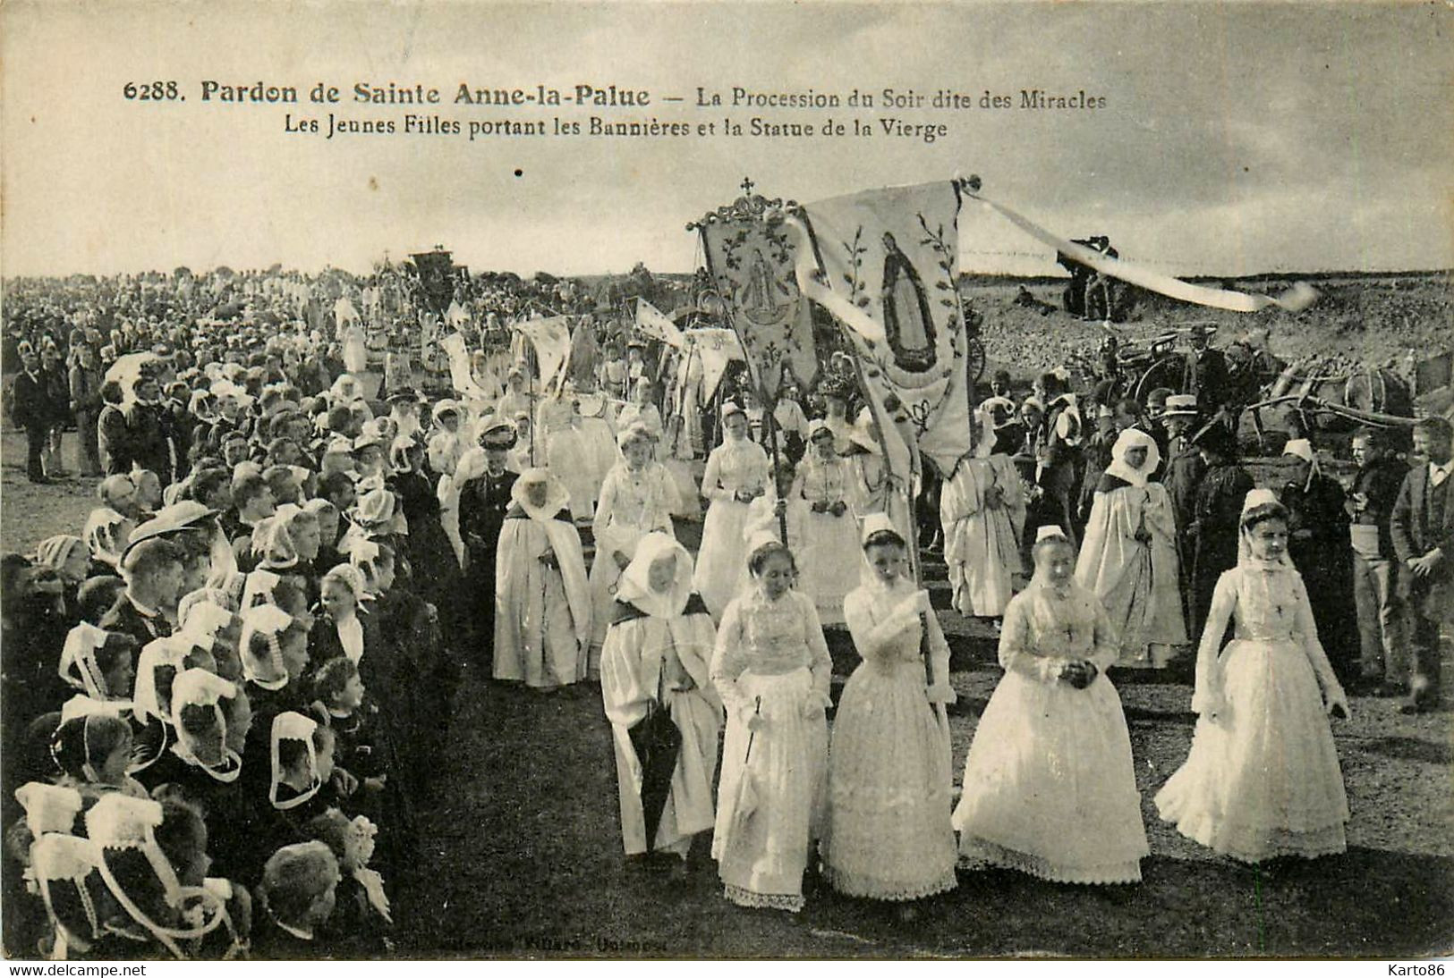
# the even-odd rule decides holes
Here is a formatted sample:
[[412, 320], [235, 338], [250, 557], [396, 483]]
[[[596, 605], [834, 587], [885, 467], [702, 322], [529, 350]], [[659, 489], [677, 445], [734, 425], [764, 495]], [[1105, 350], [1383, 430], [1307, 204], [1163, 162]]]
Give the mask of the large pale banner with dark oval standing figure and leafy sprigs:
[[842, 324], [884, 419], [952, 472], [970, 450], [957, 186], [865, 190], [807, 203], [803, 214], [803, 294]]

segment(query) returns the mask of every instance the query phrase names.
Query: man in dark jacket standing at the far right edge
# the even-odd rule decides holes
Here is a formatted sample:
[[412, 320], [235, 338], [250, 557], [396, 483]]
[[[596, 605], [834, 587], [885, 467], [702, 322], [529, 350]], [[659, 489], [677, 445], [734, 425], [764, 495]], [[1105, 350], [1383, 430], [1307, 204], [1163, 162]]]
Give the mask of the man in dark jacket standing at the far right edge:
[[1413, 657], [1405, 714], [1438, 703], [1439, 628], [1454, 623], [1454, 426], [1442, 417], [1419, 421], [1413, 453], [1423, 464], [1403, 478], [1389, 520]]

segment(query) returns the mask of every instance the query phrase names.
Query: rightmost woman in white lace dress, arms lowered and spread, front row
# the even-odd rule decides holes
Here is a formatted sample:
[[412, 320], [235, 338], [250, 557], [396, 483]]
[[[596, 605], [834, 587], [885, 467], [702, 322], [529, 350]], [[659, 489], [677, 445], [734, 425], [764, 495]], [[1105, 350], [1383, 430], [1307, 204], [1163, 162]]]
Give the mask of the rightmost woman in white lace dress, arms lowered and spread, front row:
[[[1156, 795], [1178, 831], [1246, 863], [1348, 849], [1348, 796], [1328, 724], [1328, 714], [1348, 715], [1348, 698], [1287, 539], [1277, 497], [1248, 493], [1240, 557], [1217, 580], [1197, 651], [1191, 754]], [[1229, 622], [1233, 639], [1221, 648]]]

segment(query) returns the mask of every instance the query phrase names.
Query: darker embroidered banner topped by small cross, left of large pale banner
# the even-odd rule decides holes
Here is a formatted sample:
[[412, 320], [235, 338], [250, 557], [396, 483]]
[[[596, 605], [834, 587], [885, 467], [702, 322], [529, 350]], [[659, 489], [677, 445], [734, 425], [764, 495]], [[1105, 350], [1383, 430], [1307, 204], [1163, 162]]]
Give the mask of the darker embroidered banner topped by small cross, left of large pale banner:
[[753, 373], [763, 392], [776, 398], [784, 372], [806, 387], [817, 378], [819, 363], [813, 311], [794, 275], [792, 240], [781, 218], [765, 219], [753, 209], [758, 201], [743, 198], [698, 227], [707, 270], [731, 310]]

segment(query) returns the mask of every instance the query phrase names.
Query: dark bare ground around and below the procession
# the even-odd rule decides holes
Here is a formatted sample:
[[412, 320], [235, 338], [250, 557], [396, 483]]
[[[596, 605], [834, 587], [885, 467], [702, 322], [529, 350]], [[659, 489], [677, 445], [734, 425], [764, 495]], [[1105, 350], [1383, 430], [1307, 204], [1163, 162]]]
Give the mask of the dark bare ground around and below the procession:
[[[73, 446], [70, 446], [71, 450]], [[0, 535], [32, 549], [76, 532], [92, 482], [31, 487], [17, 435], [3, 442]], [[71, 462], [74, 468], [74, 462]], [[942, 606], [944, 584], [933, 584]], [[993, 635], [942, 613], [954, 645], [955, 775], [999, 679]], [[833, 639], [838, 683], [853, 666]], [[1182, 838], [1152, 796], [1185, 759], [1189, 670], [1115, 677], [1125, 705], [1152, 856], [1128, 892], [1009, 872], [961, 873], [913, 923], [810, 892], [798, 916], [720, 895], [705, 840], [669, 881], [621, 854], [615, 766], [599, 692], [550, 695], [486, 683], [467, 660], [446, 786], [423, 812], [414, 872], [391, 881], [403, 955], [499, 958], [1406, 958], [1454, 949], [1454, 727], [1355, 699], [1333, 734], [1352, 821], [1345, 856], [1250, 869]]]

